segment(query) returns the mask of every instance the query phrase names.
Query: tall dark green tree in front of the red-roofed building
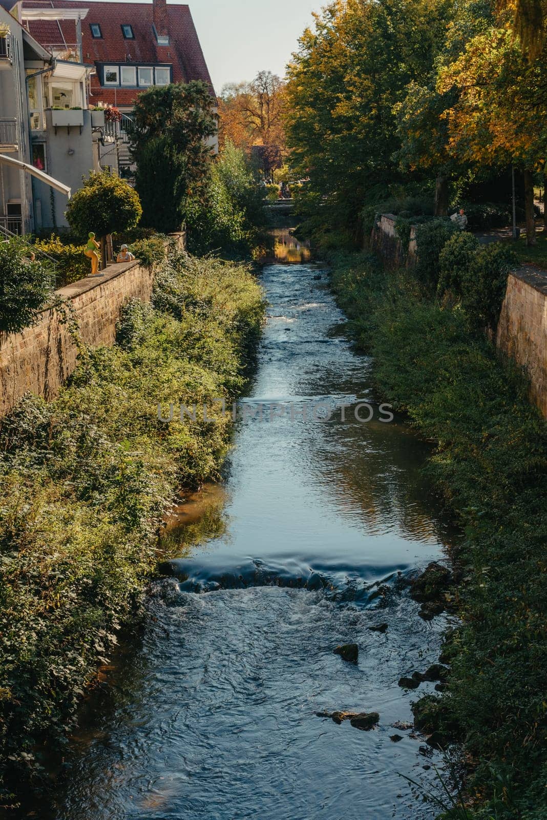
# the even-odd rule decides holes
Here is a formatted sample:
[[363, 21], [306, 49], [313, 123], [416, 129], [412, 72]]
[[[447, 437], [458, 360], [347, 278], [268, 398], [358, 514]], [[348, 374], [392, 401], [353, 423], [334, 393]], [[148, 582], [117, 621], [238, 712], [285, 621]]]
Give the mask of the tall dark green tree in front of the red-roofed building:
[[144, 225], [180, 227], [188, 202], [206, 191], [211, 158], [207, 140], [217, 131], [215, 98], [206, 83], [174, 83], [138, 95], [131, 153]]

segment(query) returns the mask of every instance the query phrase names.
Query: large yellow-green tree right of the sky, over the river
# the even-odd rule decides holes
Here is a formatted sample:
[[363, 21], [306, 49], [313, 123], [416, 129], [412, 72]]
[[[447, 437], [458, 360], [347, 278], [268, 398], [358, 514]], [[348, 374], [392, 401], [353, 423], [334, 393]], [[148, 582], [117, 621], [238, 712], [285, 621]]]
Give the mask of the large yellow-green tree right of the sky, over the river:
[[431, 75], [450, 2], [336, 0], [315, 15], [288, 66], [287, 142], [322, 221], [356, 229], [372, 191], [404, 179], [397, 103]]

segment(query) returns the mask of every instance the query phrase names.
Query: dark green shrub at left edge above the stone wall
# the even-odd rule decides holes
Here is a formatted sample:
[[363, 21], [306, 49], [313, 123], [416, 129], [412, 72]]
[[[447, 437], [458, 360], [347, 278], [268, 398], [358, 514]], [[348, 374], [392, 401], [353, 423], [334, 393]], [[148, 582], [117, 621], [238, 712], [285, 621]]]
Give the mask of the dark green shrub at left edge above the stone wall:
[[30, 262], [23, 239], [0, 242], [0, 344], [34, 324], [53, 285], [53, 271], [38, 260]]

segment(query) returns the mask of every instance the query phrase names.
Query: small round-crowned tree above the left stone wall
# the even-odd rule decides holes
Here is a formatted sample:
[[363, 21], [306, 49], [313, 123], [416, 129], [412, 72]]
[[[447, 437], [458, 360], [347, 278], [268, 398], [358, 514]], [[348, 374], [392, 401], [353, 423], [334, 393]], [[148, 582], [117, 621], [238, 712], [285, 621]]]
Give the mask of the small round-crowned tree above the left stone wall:
[[66, 219], [75, 234], [87, 239], [93, 230], [102, 239], [137, 225], [142, 207], [137, 192], [109, 171], [91, 171], [84, 185], [70, 198]]

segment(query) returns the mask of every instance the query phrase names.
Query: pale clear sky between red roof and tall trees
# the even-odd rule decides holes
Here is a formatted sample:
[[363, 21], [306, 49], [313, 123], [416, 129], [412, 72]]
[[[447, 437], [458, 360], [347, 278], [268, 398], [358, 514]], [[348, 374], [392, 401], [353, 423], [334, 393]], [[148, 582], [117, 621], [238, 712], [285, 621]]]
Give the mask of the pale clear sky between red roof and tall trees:
[[[216, 93], [263, 69], [283, 76], [297, 40], [325, 0], [185, 0]], [[168, 0], [169, 3], [169, 0]]]

